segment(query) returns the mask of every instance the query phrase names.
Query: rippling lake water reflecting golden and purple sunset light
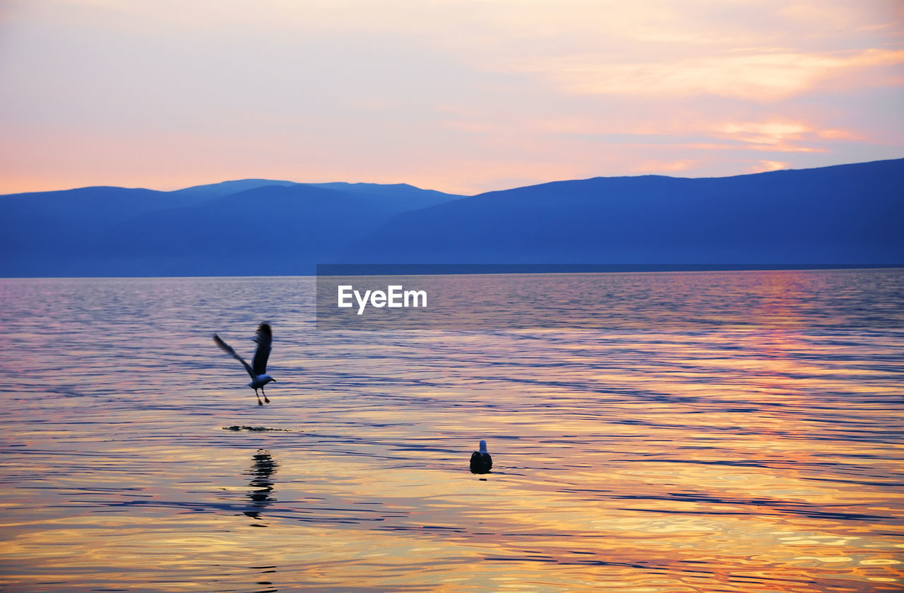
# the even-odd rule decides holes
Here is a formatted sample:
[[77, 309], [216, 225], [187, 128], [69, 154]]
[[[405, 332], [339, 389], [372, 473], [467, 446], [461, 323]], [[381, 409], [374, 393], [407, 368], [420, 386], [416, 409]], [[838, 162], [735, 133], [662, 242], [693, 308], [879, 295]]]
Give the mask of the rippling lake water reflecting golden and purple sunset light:
[[[580, 276], [755, 323], [317, 332], [310, 279], [4, 281], [0, 587], [900, 590], [904, 274]], [[259, 318], [263, 407], [210, 340]]]

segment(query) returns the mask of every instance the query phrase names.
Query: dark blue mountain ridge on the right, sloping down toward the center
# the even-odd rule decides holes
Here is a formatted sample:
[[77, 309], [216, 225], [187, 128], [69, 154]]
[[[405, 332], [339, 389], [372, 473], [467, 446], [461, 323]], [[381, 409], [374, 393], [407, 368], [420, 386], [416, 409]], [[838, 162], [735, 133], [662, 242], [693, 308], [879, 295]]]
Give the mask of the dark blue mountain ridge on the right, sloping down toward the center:
[[344, 254], [356, 256], [356, 263], [904, 263], [904, 159], [489, 192], [402, 213]]

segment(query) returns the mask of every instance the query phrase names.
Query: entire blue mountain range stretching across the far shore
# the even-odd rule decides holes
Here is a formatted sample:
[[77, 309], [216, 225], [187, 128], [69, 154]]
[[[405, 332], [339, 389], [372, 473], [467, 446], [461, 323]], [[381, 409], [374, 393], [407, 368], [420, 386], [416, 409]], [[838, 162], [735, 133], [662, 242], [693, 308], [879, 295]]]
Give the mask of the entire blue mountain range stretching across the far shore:
[[596, 177], [454, 196], [243, 179], [0, 196], [0, 275], [314, 273], [316, 263], [904, 263], [904, 159]]

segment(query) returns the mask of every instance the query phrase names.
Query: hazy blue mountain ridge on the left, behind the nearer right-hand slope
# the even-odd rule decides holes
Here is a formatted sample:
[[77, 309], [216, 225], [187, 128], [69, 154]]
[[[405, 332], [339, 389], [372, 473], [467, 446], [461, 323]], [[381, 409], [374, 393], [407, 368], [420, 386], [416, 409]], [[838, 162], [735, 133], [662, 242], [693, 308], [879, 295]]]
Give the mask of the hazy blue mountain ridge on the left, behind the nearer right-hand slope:
[[0, 276], [312, 273], [393, 215], [460, 197], [268, 179], [0, 196]]

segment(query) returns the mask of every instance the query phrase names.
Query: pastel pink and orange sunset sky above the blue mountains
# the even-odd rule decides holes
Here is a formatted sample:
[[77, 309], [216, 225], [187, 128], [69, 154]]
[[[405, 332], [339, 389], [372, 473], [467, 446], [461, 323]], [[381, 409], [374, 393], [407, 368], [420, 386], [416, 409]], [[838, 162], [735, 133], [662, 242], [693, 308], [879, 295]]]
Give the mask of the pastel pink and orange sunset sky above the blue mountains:
[[0, 193], [904, 157], [899, 0], [5, 0]]

